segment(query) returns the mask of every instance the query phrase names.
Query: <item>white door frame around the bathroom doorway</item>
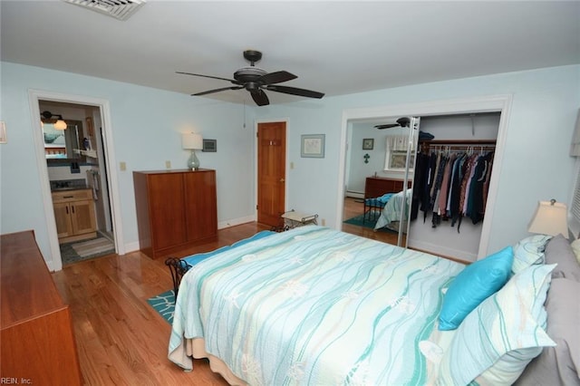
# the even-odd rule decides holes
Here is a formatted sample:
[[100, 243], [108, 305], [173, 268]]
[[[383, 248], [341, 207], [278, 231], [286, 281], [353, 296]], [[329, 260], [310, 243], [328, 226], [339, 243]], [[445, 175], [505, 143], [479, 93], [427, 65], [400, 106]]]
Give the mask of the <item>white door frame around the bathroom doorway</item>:
[[[111, 117], [110, 117], [110, 108], [109, 102], [100, 99], [94, 99], [91, 97], [86, 96], [79, 96], [79, 95], [68, 95], [68, 94], [60, 94], [54, 92], [39, 92], [39, 91], [30, 91], [29, 92], [29, 103], [30, 103], [30, 110], [31, 110], [31, 117], [34, 126], [34, 130], [39, 130], [42, 132], [42, 123], [39, 119], [41, 117], [41, 103], [52, 103], [56, 106], [56, 103], [62, 103], [63, 106], [82, 106], [83, 109], [90, 109], [94, 111], [92, 116], [82, 116], [82, 123], [87, 125], [93, 124], [94, 136], [95, 140], [100, 138], [100, 142], [95, 147], [95, 152], [100, 152], [102, 157], [102, 162], [99, 163], [97, 168], [94, 168], [94, 171], [98, 173], [98, 176], [95, 179], [92, 179], [89, 182], [90, 176], [86, 173], [86, 170], [83, 170], [82, 173], [76, 173], [79, 176], [82, 175], [82, 178], [87, 181], [87, 185], [90, 183], [99, 183], [99, 188], [102, 193], [102, 215], [106, 217], [108, 215], [109, 220], [105, 220], [103, 223], [108, 224], [103, 226], [104, 232], [107, 233], [108, 236], [113, 241], [114, 251], [117, 254], [123, 255], [125, 253], [125, 248], [123, 244], [122, 238], [122, 224], [121, 224], [121, 209], [120, 209], [120, 198], [119, 198], [119, 191], [118, 191], [118, 184], [117, 184], [117, 177], [116, 171], [112, 166], [114, 165], [114, 154], [109, 151], [109, 149], [113, 149], [112, 147], [112, 140], [111, 140]], [[86, 121], [86, 118], [91, 118], [91, 120]], [[75, 120], [72, 120], [75, 121]], [[78, 120], [77, 120], [78, 121]], [[84, 137], [82, 137], [84, 138]], [[94, 146], [94, 145], [92, 145]], [[56, 227], [56, 217], [53, 208], [53, 197], [52, 197], [52, 189], [51, 189], [51, 180], [54, 179], [54, 176], [49, 176], [49, 168], [46, 159], [46, 149], [44, 146], [44, 140], [42, 135], [34, 136], [34, 147], [35, 147], [35, 154], [37, 160], [37, 169], [39, 170], [38, 176], [40, 179], [40, 186], [42, 190], [43, 196], [43, 209], [44, 209], [44, 218], [46, 219], [46, 231], [47, 236], [49, 239], [50, 244], [50, 259], [47, 259], [47, 265], [49, 265], [49, 269], [52, 271], [61, 270], [63, 267], [63, 260], [61, 256], [61, 250], [59, 245], [59, 236], [57, 233]], [[85, 146], [86, 147], [86, 146]], [[82, 162], [79, 162], [78, 165], [74, 165], [75, 169], [79, 166], [81, 169]], [[68, 167], [70, 168], [70, 166]], [[76, 171], [76, 170], [75, 170]], [[96, 176], [96, 173], [95, 173]], [[103, 188], [106, 188], [106, 198], [108, 200], [108, 204], [105, 204], [104, 196], [105, 192]], [[98, 193], [98, 192], [97, 192]], [[70, 208], [69, 208], [70, 209]], [[66, 209], [64, 209], [66, 210]], [[96, 221], [96, 219], [95, 219]], [[48, 256], [47, 256], [48, 257]]]

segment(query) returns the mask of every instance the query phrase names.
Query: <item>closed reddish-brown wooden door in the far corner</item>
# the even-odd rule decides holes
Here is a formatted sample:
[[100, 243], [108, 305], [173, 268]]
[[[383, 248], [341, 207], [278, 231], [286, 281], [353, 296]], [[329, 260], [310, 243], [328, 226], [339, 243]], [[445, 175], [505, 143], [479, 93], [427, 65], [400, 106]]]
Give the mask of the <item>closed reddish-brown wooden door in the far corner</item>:
[[257, 125], [257, 222], [277, 227], [285, 212], [286, 123]]

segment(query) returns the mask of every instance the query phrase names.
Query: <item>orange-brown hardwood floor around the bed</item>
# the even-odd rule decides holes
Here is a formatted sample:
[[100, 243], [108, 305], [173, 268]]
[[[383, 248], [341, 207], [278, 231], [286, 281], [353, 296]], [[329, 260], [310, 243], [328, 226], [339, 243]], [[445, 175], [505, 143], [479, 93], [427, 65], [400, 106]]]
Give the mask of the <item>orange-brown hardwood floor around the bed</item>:
[[[344, 217], [362, 214], [362, 203], [345, 200]], [[207, 252], [269, 227], [243, 224], [218, 231], [218, 241], [189, 248]], [[396, 244], [396, 234], [343, 225], [343, 231]], [[226, 385], [206, 360], [195, 360], [183, 372], [167, 359], [170, 325], [147, 299], [172, 287], [164, 259], [140, 252], [102, 256], [67, 265], [53, 273], [54, 282], [70, 304], [74, 333], [86, 385]]]

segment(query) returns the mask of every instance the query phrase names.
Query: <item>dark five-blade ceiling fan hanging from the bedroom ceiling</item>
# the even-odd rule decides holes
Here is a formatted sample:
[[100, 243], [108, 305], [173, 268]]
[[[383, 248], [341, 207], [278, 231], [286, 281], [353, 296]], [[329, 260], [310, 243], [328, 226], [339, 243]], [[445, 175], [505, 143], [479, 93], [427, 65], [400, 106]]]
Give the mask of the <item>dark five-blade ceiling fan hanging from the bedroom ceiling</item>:
[[270, 104], [265, 90], [268, 92], [282, 92], [285, 94], [292, 94], [297, 96], [304, 96], [307, 98], [322, 98], [323, 92], [313, 92], [311, 90], [298, 89], [296, 87], [279, 86], [275, 83], [288, 82], [296, 79], [297, 76], [286, 71], [266, 72], [255, 63], [262, 59], [262, 53], [255, 50], [244, 51], [244, 58], [250, 63], [249, 67], [242, 67], [237, 72], [234, 72], [234, 79], [220, 78], [218, 76], [203, 75], [200, 73], [191, 72], [177, 72], [185, 75], [202, 76], [204, 78], [218, 79], [220, 81], [227, 81], [235, 86], [222, 87], [215, 90], [208, 90], [207, 92], [197, 92], [195, 96], [207, 95], [213, 92], [224, 92], [226, 90], [240, 90], [246, 89], [252, 95], [252, 99], [258, 106], [266, 106]]

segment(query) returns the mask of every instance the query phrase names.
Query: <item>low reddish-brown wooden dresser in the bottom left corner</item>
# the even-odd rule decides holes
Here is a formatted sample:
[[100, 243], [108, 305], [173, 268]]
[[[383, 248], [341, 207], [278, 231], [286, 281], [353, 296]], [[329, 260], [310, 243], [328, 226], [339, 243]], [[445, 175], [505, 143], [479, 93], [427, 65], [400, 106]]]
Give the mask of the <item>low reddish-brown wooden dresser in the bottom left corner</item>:
[[80, 385], [81, 368], [69, 306], [32, 230], [2, 235], [0, 376], [2, 383]]

